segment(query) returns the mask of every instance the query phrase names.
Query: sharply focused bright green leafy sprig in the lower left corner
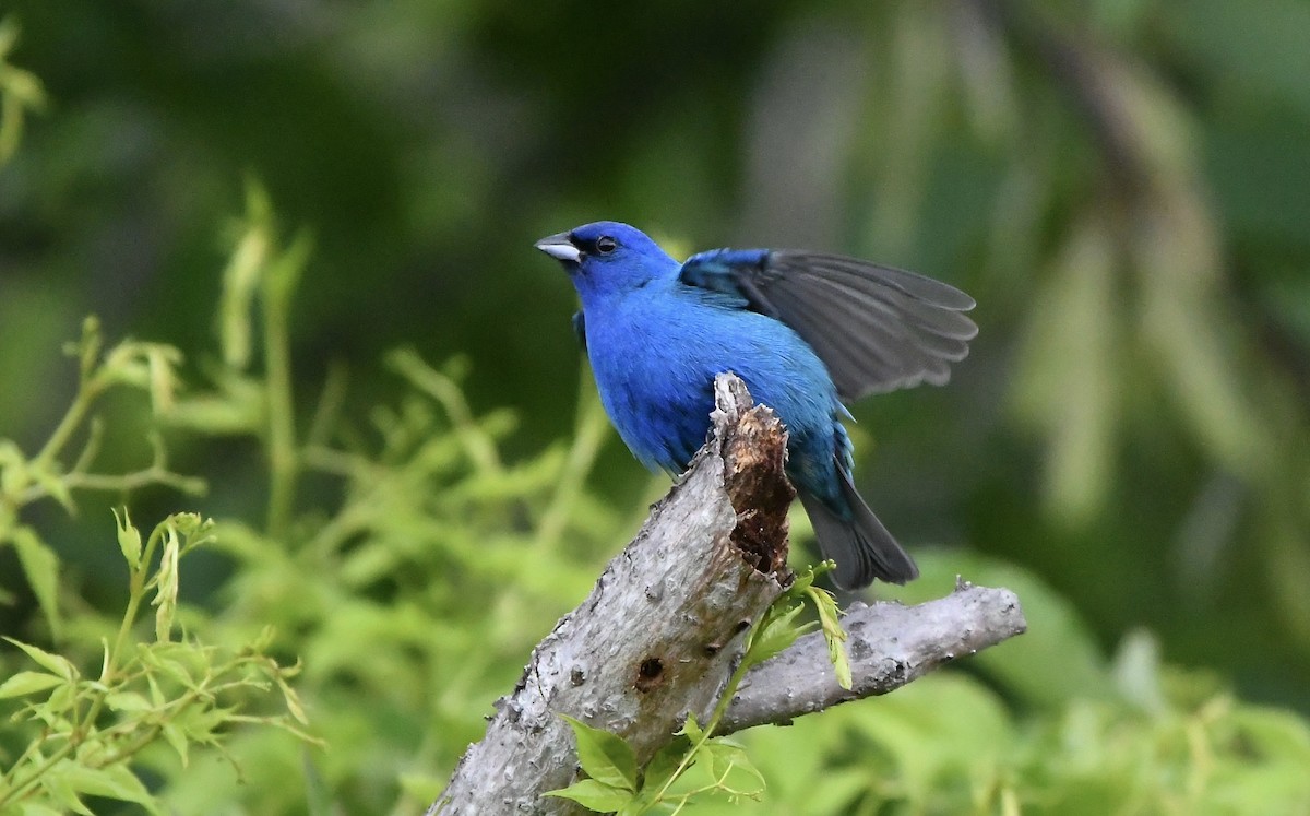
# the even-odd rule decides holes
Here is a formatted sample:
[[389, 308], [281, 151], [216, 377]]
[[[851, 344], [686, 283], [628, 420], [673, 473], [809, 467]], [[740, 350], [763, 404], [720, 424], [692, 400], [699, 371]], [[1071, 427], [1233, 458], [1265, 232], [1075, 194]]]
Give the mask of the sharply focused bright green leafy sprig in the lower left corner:
[[[169, 516], [144, 544], [126, 510], [118, 544], [128, 565], [128, 602], [113, 642], [102, 640], [97, 677], [84, 677], [67, 657], [5, 638], [37, 664], [0, 685], [0, 699], [25, 699], [12, 720], [34, 727], [34, 737], [0, 777], [0, 813], [52, 807], [92, 813], [83, 796], [102, 796], [161, 812], [131, 764], [161, 737], [187, 764], [193, 744], [217, 746], [237, 723], [274, 725], [314, 741], [288, 685], [299, 666], [280, 666], [265, 653], [271, 632], [244, 648], [173, 639], [178, 614], [178, 564], [212, 542], [214, 522], [193, 513]], [[156, 559], [156, 552], [159, 559]], [[155, 611], [155, 638], [134, 643], [143, 607]], [[284, 714], [242, 714], [252, 693], [276, 689]], [[17, 809], [16, 809], [17, 808]], [[34, 809], [35, 808], [35, 809]]]

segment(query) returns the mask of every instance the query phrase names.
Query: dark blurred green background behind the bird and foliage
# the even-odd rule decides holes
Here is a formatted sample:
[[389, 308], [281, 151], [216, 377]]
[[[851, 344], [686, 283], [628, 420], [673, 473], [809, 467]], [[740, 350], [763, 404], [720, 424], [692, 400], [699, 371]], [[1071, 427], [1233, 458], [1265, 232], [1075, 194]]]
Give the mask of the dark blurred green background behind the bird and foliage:
[[[572, 433], [586, 374], [571, 287], [534, 239], [605, 218], [675, 255], [869, 257], [979, 302], [946, 388], [854, 408], [862, 492], [909, 550], [1026, 567], [1106, 651], [1145, 627], [1166, 661], [1310, 712], [1310, 5], [10, 13], [9, 59], [48, 97], [0, 169], [0, 436], [25, 450], [72, 394], [60, 344], [88, 312], [203, 367], [249, 177], [314, 237], [292, 316], [303, 415], [337, 366], [363, 411], [394, 388], [386, 349], [458, 354], [469, 401], [517, 417], [511, 462]], [[262, 512], [254, 446], [176, 454], [211, 480], [196, 509]], [[663, 489], [613, 434], [590, 484], [625, 517]], [[110, 558], [86, 533], [100, 514], [34, 521], [69, 563]], [[0, 630], [24, 631], [10, 551], [0, 575], [18, 593]], [[80, 580], [121, 592], [113, 571]]]

